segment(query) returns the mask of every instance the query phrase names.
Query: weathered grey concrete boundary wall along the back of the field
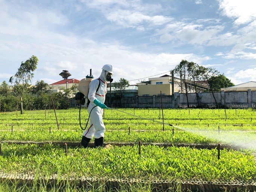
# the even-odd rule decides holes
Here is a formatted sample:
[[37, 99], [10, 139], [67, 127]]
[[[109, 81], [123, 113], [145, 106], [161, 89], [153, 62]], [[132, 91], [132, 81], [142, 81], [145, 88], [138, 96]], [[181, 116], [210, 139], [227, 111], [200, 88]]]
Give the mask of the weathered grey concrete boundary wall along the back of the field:
[[[230, 108], [256, 108], [256, 91], [237, 91], [225, 92], [221, 91], [214, 93], [215, 99], [219, 106], [227, 106]], [[212, 93], [198, 93], [199, 105], [203, 107], [215, 108], [215, 100]], [[190, 108], [197, 107], [198, 101], [195, 93], [188, 93]], [[74, 106], [76, 101], [72, 101]], [[117, 108], [161, 108], [163, 102], [164, 108], [187, 108], [187, 98], [184, 93], [174, 93], [169, 96], [136, 96], [123, 97], [122, 99], [115, 99], [112, 104], [110, 98], [106, 98], [105, 104], [108, 107]]]

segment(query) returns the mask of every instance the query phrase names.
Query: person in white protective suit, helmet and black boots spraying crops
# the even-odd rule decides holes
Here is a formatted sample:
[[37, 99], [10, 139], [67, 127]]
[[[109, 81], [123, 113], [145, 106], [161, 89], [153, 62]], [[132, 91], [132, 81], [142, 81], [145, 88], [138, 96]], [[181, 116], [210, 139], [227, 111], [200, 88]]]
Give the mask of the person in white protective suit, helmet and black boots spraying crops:
[[[111, 65], [104, 65], [102, 67], [101, 76], [90, 82], [88, 99], [88, 113], [90, 114], [90, 126], [84, 131], [81, 145], [86, 148], [91, 138], [94, 136], [94, 146], [103, 146], [105, 125], [103, 123], [102, 114], [103, 109], [108, 109], [104, 104], [105, 95], [107, 93], [107, 82], [112, 82], [113, 67]], [[98, 91], [96, 91], [98, 89]], [[97, 106], [97, 107], [95, 107]]]

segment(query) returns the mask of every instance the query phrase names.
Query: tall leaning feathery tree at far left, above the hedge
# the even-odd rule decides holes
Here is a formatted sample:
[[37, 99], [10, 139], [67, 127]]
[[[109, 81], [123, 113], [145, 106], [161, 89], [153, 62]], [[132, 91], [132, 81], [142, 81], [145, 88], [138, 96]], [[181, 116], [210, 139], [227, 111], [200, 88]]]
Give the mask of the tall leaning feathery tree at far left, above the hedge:
[[[34, 77], [34, 72], [37, 69], [38, 58], [32, 55], [26, 62], [21, 62], [20, 68], [18, 68], [17, 73], [14, 76], [11, 76], [9, 82], [14, 83], [14, 91], [22, 83], [21, 94], [27, 90], [29, 83], [31, 83], [32, 78]], [[15, 92], [14, 92], [15, 93]], [[15, 93], [16, 94], [16, 93]]]

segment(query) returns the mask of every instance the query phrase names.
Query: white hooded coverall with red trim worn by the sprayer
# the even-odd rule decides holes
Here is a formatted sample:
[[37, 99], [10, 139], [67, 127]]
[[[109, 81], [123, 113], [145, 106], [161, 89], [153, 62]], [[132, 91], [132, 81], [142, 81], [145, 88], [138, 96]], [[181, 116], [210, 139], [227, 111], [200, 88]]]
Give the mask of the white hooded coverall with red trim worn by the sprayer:
[[[104, 137], [105, 125], [103, 123], [102, 114], [103, 109], [96, 106], [93, 101], [94, 99], [98, 99], [100, 102], [105, 102], [105, 96], [107, 93], [107, 72], [102, 70], [101, 76], [98, 79], [94, 79], [90, 82], [89, 85], [89, 93], [88, 99], [90, 100], [90, 104], [88, 105], [88, 113], [90, 114], [90, 126], [87, 130], [84, 131], [83, 136], [87, 138], [99, 139], [100, 137]], [[100, 85], [99, 85], [100, 83]], [[96, 92], [99, 85], [99, 90]], [[93, 108], [94, 107], [94, 108]], [[92, 110], [92, 111], [91, 111]]]

